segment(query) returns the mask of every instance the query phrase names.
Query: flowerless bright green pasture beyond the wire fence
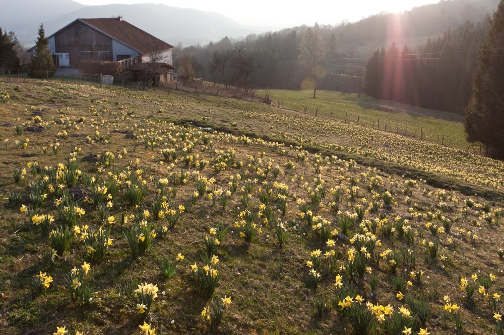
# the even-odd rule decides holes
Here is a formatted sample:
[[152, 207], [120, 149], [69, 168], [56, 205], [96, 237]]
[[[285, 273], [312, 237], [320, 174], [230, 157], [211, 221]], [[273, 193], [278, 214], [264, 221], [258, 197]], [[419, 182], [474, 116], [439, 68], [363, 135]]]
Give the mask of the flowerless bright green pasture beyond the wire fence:
[[[463, 117], [454, 113], [427, 110], [410, 105], [388, 101], [359, 98], [356, 94], [318, 91], [313, 99], [313, 91], [271, 90], [272, 102], [284, 108], [291, 108], [328, 119], [336, 119], [381, 130], [406, 134], [439, 144], [466, 149]], [[444, 139], [443, 139], [444, 136]]]

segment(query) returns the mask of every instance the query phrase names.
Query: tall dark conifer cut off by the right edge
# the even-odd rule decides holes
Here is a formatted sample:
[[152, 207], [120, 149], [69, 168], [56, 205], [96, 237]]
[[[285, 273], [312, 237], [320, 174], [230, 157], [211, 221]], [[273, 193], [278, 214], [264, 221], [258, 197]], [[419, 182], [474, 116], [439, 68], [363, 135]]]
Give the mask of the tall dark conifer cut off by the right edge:
[[493, 15], [483, 42], [466, 108], [469, 142], [486, 144], [487, 154], [504, 159], [504, 0]]

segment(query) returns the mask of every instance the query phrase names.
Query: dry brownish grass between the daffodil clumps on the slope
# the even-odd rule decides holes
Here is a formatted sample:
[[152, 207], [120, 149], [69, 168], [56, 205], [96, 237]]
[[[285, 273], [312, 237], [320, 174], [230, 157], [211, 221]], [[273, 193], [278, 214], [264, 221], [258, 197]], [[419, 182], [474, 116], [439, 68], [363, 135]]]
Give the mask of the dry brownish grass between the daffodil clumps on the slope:
[[[358, 223], [351, 226], [350, 237], [363, 227], [371, 230], [371, 222], [376, 219], [382, 223], [384, 218], [390, 222], [396, 217], [408, 220], [414, 232], [410, 248], [416, 254], [416, 264], [406, 265], [403, 261], [398, 274], [410, 280], [410, 270], [423, 271], [421, 282], [412, 280], [413, 286], [403, 293], [426, 297], [433, 311], [427, 322], [432, 334], [454, 331], [453, 321], [443, 318], [444, 295], [449, 295], [452, 302], [461, 306], [462, 319], [467, 323], [458, 331], [493, 332], [495, 310], [478, 292], [473, 303], [466, 300], [464, 292], [459, 289], [459, 279], [467, 278], [472, 282], [470, 278], [474, 273], [480, 277], [493, 273], [496, 279], [490, 294], [502, 292], [502, 266], [497, 256], [497, 249], [502, 245], [498, 224], [502, 220], [501, 184], [494, 181], [504, 170], [499, 162], [418, 140], [408, 139], [411, 142], [406, 142], [405, 137], [395, 134], [369, 129], [364, 132], [363, 127], [208, 94], [137, 92], [113, 87], [99, 89], [78, 83], [61, 86], [40, 81], [3, 83], [0, 92], [4, 91], [10, 98], [0, 103], [2, 124], [12, 123], [26, 128], [33, 125], [35, 119], [32, 118], [38, 115], [42, 120], [40, 124], [45, 127], [42, 133], [25, 129], [22, 135], [17, 135], [13, 126], [0, 127], [0, 154], [3, 156], [0, 190], [4, 198], [0, 209], [0, 326], [9, 333], [47, 334], [63, 325], [71, 335], [76, 331], [85, 334], [141, 333], [138, 326], [144, 321], [156, 326], [156, 333], [160, 333], [161, 327], [163, 333], [207, 333], [208, 328], [200, 313], [209, 305], [209, 299], [195, 290], [190, 265], [197, 262], [199, 267], [203, 266], [204, 239], [210, 236], [210, 228], [218, 224], [228, 226], [229, 231], [217, 252], [220, 262], [216, 268], [222, 273], [222, 280], [213, 298], [231, 296], [232, 303], [224, 310], [230, 333], [350, 332], [351, 327], [340, 312], [338, 290], [333, 284], [336, 274], [346, 272], [340, 267], [348, 267], [347, 251], [351, 245], [337, 239], [333, 248], [328, 247], [300, 216], [298, 203], [304, 200], [314, 215], [329, 220], [331, 230], [341, 230], [340, 215], [331, 211], [334, 200], [330, 189], [341, 190], [340, 210], [343, 212], [355, 213], [358, 205], [368, 208], [372, 202], [377, 203], [375, 211], [369, 210], [364, 215], [362, 227]], [[200, 129], [199, 126], [219, 131]], [[67, 135], [62, 134], [64, 131]], [[28, 145], [18, 148], [15, 141], [22, 143], [26, 138], [29, 139]], [[49, 145], [56, 142], [59, 149], [54, 154]], [[43, 147], [47, 147], [45, 154]], [[172, 148], [178, 152], [175, 161], [170, 157], [165, 159], [160, 152]], [[408, 149], [411, 157], [406, 160], [403, 158], [409, 156]], [[186, 150], [190, 151], [188, 157], [193, 157], [193, 160], [188, 158], [189, 166], [182, 160]], [[83, 160], [90, 154], [103, 155], [107, 151], [116, 157], [111, 166], [101, 169], [95, 162]], [[80, 235], [76, 235], [69, 252], [49, 268], [43, 257], [51, 249], [51, 244], [27, 213], [19, 210], [21, 204], [30, 205], [30, 182], [42, 179], [40, 171], [34, 169], [32, 175], [32, 168], [27, 165], [31, 162], [33, 166], [37, 162], [43, 169], [44, 166], [65, 163], [65, 156], [71, 152], [77, 153], [78, 169], [82, 172], [78, 185], [85, 187], [87, 193], [94, 185], [108, 180], [109, 174], [120, 176], [121, 171], [129, 168], [134, 174], [142, 171], [138, 175], [146, 182], [147, 196], [138, 208], [128, 206], [124, 187], [131, 177], [124, 177], [120, 191], [112, 198], [113, 207], [109, 214], [116, 221], [111, 225], [113, 241], [105, 259], [90, 262], [84, 242]], [[216, 172], [217, 167], [214, 170], [213, 165], [223, 152], [234, 157], [227, 160], [225, 170]], [[203, 170], [191, 166], [202, 160], [209, 161]], [[431, 163], [422, 165], [418, 161]], [[289, 162], [293, 164], [290, 169]], [[458, 174], [454, 166], [458, 166]], [[24, 179], [15, 183], [14, 170], [23, 168], [27, 171]], [[277, 176], [275, 169], [281, 170]], [[453, 171], [449, 173], [449, 170]], [[397, 174], [397, 171], [401, 173]], [[475, 174], [466, 178], [464, 174], [468, 171]], [[188, 173], [185, 183], [174, 185], [170, 182], [166, 187], [177, 189], [176, 197], [171, 199], [174, 207], [184, 205], [185, 211], [174, 228], [161, 238], [159, 231], [167, 222], [163, 218], [153, 218], [152, 204], [158, 194], [154, 181], [156, 178], [170, 179], [180, 172]], [[95, 177], [96, 182], [86, 182], [85, 176]], [[214, 178], [215, 182], [193, 204], [190, 199], [197, 190], [198, 176]], [[230, 178], [237, 179], [238, 176], [236, 191], [229, 196], [226, 208], [222, 208], [219, 200], [212, 205], [209, 194], [218, 195], [215, 191], [219, 189], [225, 192], [230, 187]], [[275, 194], [280, 186], [276, 183], [288, 187], [284, 215], [278, 212], [281, 202]], [[245, 205], [240, 196], [247, 194], [247, 184], [251, 185], [250, 201]], [[322, 186], [317, 188], [318, 184]], [[358, 189], [352, 190], [353, 185]], [[436, 185], [459, 189], [465, 194], [437, 189]], [[57, 185], [52, 186], [58, 189]], [[326, 188], [322, 205], [318, 201], [310, 204], [311, 193], [322, 187]], [[268, 189], [272, 190], [269, 207], [290, 234], [282, 248], [275, 231], [264, 223], [265, 209], [260, 209], [260, 194], [266, 194]], [[394, 198], [391, 208], [382, 207], [386, 191]], [[16, 192], [21, 197], [19, 203], [13, 200]], [[356, 194], [352, 195], [352, 192]], [[470, 196], [474, 192], [486, 193], [486, 199]], [[57, 192], [47, 191], [47, 199], [40, 209], [40, 214], [54, 216], [52, 228], [62, 224], [54, 204], [59, 197]], [[474, 204], [472, 207], [467, 206], [469, 199]], [[251, 244], [240, 238], [235, 227], [235, 222], [241, 220], [239, 213], [244, 206], [263, 215], [255, 221], [262, 234]], [[108, 223], [100, 222], [95, 206], [83, 203], [82, 207], [86, 214], [79, 223], [81, 229], [83, 225], [96, 229], [108, 226]], [[146, 254], [134, 260], [123, 235], [129, 231], [134, 219], [120, 225], [118, 218], [121, 213], [140, 215], [145, 210], [149, 210], [150, 216], [146, 219], [153, 224], [153, 229], [159, 230], [158, 236]], [[493, 223], [486, 222], [486, 210], [494, 219]], [[436, 213], [439, 213], [438, 218]], [[434, 236], [425, 224], [432, 222], [442, 226], [442, 215], [451, 219], [451, 232], [439, 232]], [[399, 232], [393, 234], [394, 238], [385, 238], [380, 231], [376, 231], [376, 236], [382, 240], [382, 245], [376, 247], [374, 255], [379, 256], [388, 248], [399, 253], [399, 249], [408, 243]], [[471, 241], [468, 231], [478, 238]], [[423, 239], [438, 240], [442, 245], [440, 254], [451, 258], [452, 262], [445, 266], [440, 258], [424, 260], [427, 252]], [[337, 267], [333, 269], [329, 268], [328, 259], [322, 259], [322, 280], [314, 290], [306, 288], [304, 280], [310, 270], [306, 266], [310, 252], [318, 248], [323, 251], [334, 249], [339, 257]], [[157, 260], [165, 255], [175, 257], [178, 253], [184, 255], [184, 259], [178, 263], [175, 276], [171, 279], [163, 277], [157, 268]], [[86, 280], [96, 292], [88, 304], [72, 301], [66, 287], [70, 270], [80, 267], [83, 262], [91, 263]], [[345, 283], [353, 282], [358, 294], [366, 301], [391, 304], [396, 311], [400, 306], [406, 306], [404, 300], [396, 298], [397, 292], [389, 280], [388, 262], [373, 256], [368, 266], [379, 278], [377, 297], [370, 295], [369, 275], [363, 280], [347, 275]], [[31, 288], [34, 276], [40, 271], [53, 278], [44, 294], [36, 294]], [[159, 288], [159, 296], [149, 315], [138, 313], [133, 299], [124, 296], [125, 283], [135, 278]], [[318, 318], [313, 306], [316, 295], [324, 296], [327, 301], [322, 319]]]

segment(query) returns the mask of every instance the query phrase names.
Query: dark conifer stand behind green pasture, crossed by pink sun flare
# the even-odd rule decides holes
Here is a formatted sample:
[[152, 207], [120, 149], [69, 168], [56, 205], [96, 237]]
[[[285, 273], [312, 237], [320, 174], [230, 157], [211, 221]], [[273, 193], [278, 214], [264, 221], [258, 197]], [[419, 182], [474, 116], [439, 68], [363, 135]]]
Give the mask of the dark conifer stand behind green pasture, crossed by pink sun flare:
[[478, 54], [490, 20], [466, 22], [428, 39], [418, 51], [393, 43], [366, 64], [364, 93], [423, 108], [462, 114], [469, 102]]

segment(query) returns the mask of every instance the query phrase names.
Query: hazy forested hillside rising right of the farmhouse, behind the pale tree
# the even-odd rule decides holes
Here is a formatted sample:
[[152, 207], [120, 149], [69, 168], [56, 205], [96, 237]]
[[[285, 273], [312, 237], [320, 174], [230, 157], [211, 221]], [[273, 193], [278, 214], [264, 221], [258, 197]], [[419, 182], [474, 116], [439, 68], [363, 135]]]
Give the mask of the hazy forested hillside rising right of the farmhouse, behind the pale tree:
[[[479, 45], [496, 4], [496, 0], [442, 1], [356, 23], [315, 24], [327, 50], [318, 87], [346, 93], [364, 89], [375, 98], [462, 113]], [[224, 85], [240, 86], [238, 77], [248, 68], [248, 87], [308, 89], [305, 79], [310, 70], [298, 60], [299, 43], [308, 28], [251, 34], [239, 40], [226, 37], [205, 46], [179, 45], [174, 58], [191, 59], [193, 70], [185, 71], [186, 61], [175, 65], [183, 69], [182, 74], [194, 73]], [[381, 64], [375, 64], [380, 67], [374, 79], [364, 80], [371, 56], [379, 57]]]

